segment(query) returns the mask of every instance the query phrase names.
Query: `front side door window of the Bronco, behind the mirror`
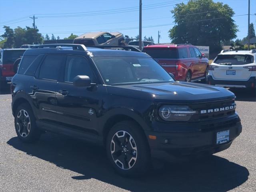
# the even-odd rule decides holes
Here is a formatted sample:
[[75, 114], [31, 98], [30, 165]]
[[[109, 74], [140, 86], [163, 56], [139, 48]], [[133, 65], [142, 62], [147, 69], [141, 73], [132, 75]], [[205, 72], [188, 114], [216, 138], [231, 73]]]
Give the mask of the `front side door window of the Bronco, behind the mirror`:
[[94, 82], [94, 75], [86, 58], [78, 56], [68, 56], [66, 61], [65, 82], [73, 82], [78, 75], [87, 75]]

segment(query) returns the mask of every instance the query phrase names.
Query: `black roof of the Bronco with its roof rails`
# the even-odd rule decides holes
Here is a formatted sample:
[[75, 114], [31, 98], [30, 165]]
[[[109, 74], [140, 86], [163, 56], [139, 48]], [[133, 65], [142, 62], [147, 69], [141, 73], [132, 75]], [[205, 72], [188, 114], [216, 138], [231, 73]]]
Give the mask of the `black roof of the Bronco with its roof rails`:
[[60, 48], [32, 48], [26, 50], [24, 55], [39, 55], [39, 54], [87, 54], [90, 52], [92, 57], [150, 57], [148, 54], [135, 51], [125, 50], [110, 50], [96, 47], [87, 47], [87, 51], [60, 49]]

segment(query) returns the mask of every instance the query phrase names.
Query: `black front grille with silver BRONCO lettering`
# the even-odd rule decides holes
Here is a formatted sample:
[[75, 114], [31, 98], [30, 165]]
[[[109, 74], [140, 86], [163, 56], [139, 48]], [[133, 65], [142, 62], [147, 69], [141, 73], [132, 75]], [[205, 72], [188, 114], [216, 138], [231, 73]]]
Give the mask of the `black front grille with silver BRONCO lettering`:
[[190, 121], [198, 122], [198, 121], [212, 120], [215, 118], [230, 116], [235, 113], [236, 105], [235, 105], [234, 99], [227, 99], [227, 100], [217, 100], [212, 102], [191, 104], [189, 105], [189, 107], [197, 111], [197, 114], [194, 114], [191, 117]]

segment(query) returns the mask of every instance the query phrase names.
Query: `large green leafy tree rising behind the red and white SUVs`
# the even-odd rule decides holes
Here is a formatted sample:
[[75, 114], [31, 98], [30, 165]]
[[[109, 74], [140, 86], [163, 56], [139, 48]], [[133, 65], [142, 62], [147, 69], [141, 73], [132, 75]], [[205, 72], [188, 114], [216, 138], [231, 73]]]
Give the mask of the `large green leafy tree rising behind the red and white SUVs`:
[[221, 42], [236, 38], [238, 27], [232, 16], [234, 11], [227, 4], [213, 0], [190, 0], [176, 4], [171, 11], [176, 25], [169, 30], [173, 43], [191, 43], [210, 46], [210, 52], [218, 52]]

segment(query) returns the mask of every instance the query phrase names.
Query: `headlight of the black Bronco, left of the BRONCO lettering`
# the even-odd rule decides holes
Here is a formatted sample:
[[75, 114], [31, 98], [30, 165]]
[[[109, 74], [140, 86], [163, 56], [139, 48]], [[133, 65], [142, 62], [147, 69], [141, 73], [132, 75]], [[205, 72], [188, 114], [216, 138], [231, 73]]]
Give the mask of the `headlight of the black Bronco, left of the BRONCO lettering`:
[[160, 107], [159, 116], [165, 121], [188, 121], [196, 111], [188, 106], [165, 105]]

